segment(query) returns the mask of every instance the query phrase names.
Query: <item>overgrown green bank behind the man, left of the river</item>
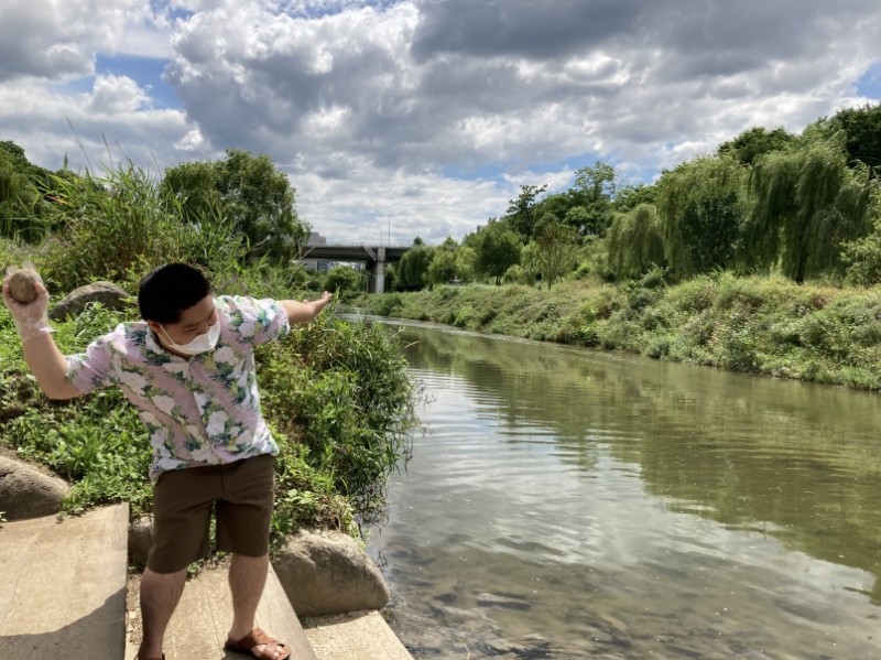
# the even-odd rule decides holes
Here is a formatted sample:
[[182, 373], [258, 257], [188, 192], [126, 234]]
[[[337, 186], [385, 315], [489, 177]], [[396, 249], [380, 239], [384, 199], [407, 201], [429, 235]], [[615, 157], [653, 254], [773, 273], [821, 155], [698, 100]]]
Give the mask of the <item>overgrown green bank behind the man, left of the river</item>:
[[[236, 158], [239, 164], [251, 162], [247, 155]], [[258, 164], [271, 175], [271, 166]], [[186, 195], [131, 163], [102, 174], [65, 170], [47, 174], [46, 181], [52, 194], [34, 188], [35, 206], [22, 209], [31, 215], [6, 227], [4, 236], [14, 239], [0, 237], [0, 272], [33, 261], [52, 303], [96, 280], [133, 294], [144, 274], [172, 261], [202, 268], [225, 294], [303, 300], [317, 297], [326, 284], [285, 256], [306, 227], [292, 220], [293, 193], [284, 177], [280, 185], [287, 195], [273, 197], [275, 187], [257, 185], [249, 188], [248, 203], [236, 206], [238, 215], [214, 203], [187, 210]], [[217, 202], [215, 193], [238, 199], [226, 188], [206, 198]], [[258, 242], [265, 244], [264, 251], [254, 251], [254, 236], [248, 232], [253, 224], [263, 231], [272, 228], [264, 238], [278, 239], [281, 251], [263, 240]], [[62, 351], [73, 354], [117, 324], [138, 318], [131, 301], [119, 312], [93, 306], [53, 325]], [[302, 526], [351, 532], [357, 523], [382, 518], [387, 478], [409, 456], [416, 423], [417, 396], [394, 334], [349, 324], [331, 306], [284, 342], [259, 347], [257, 360], [263, 412], [281, 448], [273, 541]], [[151, 507], [151, 450], [132, 407], [117, 390], [48, 401], [29, 374], [4, 305], [0, 451], [44, 464], [70, 482], [67, 511], [123, 500], [134, 516]]]

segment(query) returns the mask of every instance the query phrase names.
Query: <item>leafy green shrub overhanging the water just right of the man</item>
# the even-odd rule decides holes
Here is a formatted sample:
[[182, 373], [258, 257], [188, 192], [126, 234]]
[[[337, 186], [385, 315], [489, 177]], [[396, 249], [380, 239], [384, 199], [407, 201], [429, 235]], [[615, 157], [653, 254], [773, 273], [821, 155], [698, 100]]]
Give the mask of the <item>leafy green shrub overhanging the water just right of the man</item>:
[[415, 393], [396, 335], [325, 312], [259, 353], [268, 419], [298, 436], [362, 521], [384, 509], [388, 475], [411, 452]]

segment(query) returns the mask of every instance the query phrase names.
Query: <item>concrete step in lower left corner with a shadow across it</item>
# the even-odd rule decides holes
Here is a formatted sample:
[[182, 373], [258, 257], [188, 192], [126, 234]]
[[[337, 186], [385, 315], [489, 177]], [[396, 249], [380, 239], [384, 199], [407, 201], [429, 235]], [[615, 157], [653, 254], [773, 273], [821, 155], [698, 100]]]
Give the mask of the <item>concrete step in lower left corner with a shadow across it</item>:
[[0, 528], [0, 658], [121, 658], [128, 505]]

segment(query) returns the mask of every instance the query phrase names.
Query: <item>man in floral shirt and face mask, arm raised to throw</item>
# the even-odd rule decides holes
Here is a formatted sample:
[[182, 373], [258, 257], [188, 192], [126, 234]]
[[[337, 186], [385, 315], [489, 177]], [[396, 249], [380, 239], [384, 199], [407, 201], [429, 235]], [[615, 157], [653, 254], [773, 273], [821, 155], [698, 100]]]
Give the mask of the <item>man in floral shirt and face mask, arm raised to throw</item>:
[[253, 348], [284, 338], [291, 324], [313, 320], [330, 301], [214, 296], [184, 263], [141, 280], [143, 321], [124, 323], [80, 355], [63, 356], [52, 338], [48, 292], [17, 302], [3, 281], [24, 358], [50, 399], [119, 387], [150, 433], [154, 486], [153, 544], [141, 580], [143, 639], [139, 660], [164, 660], [162, 641], [187, 566], [208, 551], [213, 510], [217, 545], [232, 554], [233, 620], [227, 650], [283, 660], [290, 649], [254, 627], [269, 569], [273, 456], [278, 445], [260, 410]]

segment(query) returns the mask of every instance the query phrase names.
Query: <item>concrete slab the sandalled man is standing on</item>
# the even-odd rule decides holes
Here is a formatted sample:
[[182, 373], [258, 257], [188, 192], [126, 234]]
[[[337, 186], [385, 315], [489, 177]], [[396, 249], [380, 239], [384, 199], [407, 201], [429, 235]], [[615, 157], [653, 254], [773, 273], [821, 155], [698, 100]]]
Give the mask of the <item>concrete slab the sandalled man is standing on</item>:
[[[232, 601], [226, 562], [187, 581], [165, 634], [166, 660], [242, 660], [224, 650], [232, 623]], [[291, 648], [292, 660], [318, 660], [296, 618], [275, 572], [270, 567], [257, 625]], [[140, 639], [129, 639], [126, 659], [133, 660]]]

